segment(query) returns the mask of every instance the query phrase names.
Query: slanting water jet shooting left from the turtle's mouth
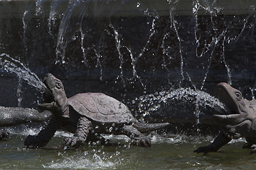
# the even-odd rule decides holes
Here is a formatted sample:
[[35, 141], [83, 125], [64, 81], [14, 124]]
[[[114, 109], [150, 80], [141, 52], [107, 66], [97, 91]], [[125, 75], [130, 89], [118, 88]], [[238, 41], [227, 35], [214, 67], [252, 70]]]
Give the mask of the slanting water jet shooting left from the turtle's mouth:
[[20, 61], [11, 58], [3, 53], [0, 55], [0, 65], [6, 71], [15, 73], [19, 78], [27, 81], [31, 86], [36, 87], [41, 91], [46, 89], [46, 85], [38, 78], [38, 76], [25, 67]]

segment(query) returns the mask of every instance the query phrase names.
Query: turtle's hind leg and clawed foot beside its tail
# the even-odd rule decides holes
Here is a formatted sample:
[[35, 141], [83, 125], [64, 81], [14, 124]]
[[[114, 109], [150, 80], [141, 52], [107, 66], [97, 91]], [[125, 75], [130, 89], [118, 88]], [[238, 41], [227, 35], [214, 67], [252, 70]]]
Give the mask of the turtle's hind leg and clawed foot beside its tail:
[[121, 129], [122, 134], [127, 135], [131, 138], [131, 145], [138, 147], [151, 147], [149, 137], [142, 135], [139, 130], [134, 128], [132, 125], [124, 125]]

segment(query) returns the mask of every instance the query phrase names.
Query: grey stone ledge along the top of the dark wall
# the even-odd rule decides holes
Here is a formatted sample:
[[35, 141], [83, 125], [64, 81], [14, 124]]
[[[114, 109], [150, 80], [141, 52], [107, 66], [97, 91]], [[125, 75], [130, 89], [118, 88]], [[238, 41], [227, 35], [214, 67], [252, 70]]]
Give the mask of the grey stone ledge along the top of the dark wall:
[[[214, 3], [198, 0], [201, 7], [198, 8], [198, 15], [211, 15], [212, 13], [220, 15], [242, 15], [254, 14], [255, 1], [215, 1]], [[86, 9], [85, 16], [105, 17], [105, 16], [147, 16], [157, 13], [159, 16], [169, 16], [170, 11], [174, 15], [191, 16], [193, 8], [196, 7], [193, 1], [86, 1], [85, 6], [79, 4], [77, 14]], [[0, 18], [23, 18], [25, 11], [34, 13], [31, 17], [41, 17], [38, 14], [48, 18], [50, 8], [55, 8], [59, 13], [65, 13], [69, 5], [68, 0], [61, 1], [61, 4], [53, 4], [53, 1], [36, 1], [36, 0], [0, 0]]]

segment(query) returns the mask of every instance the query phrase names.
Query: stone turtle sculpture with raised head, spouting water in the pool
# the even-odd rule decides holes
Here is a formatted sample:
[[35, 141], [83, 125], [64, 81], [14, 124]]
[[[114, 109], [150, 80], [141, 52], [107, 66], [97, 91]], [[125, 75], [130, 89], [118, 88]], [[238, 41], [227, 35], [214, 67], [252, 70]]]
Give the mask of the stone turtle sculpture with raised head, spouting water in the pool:
[[101, 93], [76, 94], [67, 98], [62, 82], [46, 74], [43, 83], [51, 91], [54, 101], [43, 103], [38, 107], [53, 113], [46, 126], [36, 136], [29, 135], [24, 145], [29, 148], [45, 146], [55, 134], [62, 129], [74, 133], [73, 137], [63, 140], [65, 147], [80, 147], [87, 141], [105, 140], [100, 133], [127, 135], [132, 145], [151, 147], [148, 137], [142, 132], [164, 128], [169, 123], [139, 123], [129, 108], [116, 99]]

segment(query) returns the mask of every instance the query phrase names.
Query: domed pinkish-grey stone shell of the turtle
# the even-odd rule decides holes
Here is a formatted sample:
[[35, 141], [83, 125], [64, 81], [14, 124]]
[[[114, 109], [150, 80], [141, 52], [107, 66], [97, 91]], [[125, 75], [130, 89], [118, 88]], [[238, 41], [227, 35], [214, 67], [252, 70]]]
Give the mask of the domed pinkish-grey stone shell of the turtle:
[[124, 103], [101, 93], [76, 94], [68, 98], [68, 104], [80, 115], [101, 123], [137, 121]]

